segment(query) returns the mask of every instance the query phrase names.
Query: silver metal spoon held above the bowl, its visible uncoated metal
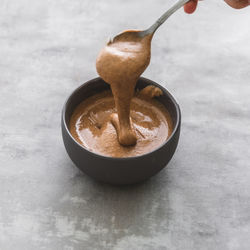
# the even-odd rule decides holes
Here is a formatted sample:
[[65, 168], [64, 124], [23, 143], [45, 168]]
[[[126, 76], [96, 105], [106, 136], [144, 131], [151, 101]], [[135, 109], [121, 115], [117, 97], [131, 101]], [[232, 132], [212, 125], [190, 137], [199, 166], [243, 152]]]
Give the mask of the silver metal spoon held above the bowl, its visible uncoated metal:
[[113, 39], [109, 41], [109, 43], [112, 43], [113, 41], [120, 39], [123, 35], [132, 35], [136, 37], [144, 37], [149, 34], [154, 34], [155, 31], [178, 9], [180, 9], [185, 3], [189, 2], [190, 0], [179, 0], [176, 4], [174, 4], [169, 10], [167, 10], [152, 26], [150, 26], [146, 30], [142, 30], [139, 32], [135, 31], [125, 31], [117, 36], [115, 36]]

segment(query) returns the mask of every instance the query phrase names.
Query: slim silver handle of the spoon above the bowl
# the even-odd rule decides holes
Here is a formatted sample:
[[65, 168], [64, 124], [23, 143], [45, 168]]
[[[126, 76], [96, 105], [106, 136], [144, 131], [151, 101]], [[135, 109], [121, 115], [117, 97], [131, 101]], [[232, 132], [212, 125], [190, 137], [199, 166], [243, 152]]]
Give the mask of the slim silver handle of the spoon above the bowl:
[[181, 8], [185, 3], [190, 0], [179, 0], [175, 5], [173, 5], [169, 10], [167, 10], [152, 26], [148, 29], [142, 31], [142, 36], [153, 34], [155, 31], [179, 8]]

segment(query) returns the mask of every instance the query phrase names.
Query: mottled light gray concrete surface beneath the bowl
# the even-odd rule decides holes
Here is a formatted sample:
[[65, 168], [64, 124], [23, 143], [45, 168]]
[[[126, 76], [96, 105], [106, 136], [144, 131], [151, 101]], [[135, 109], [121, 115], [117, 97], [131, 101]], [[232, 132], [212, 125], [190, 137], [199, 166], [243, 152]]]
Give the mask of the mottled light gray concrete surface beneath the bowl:
[[96, 76], [107, 38], [149, 26], [173, 1], [0, 1], [1, 250], [249, 250], [250, 8], [203, 1], [156, 34], [144, 76], [183, 115], [178, 150], [131, 187], [77, 170], [61, 108]]

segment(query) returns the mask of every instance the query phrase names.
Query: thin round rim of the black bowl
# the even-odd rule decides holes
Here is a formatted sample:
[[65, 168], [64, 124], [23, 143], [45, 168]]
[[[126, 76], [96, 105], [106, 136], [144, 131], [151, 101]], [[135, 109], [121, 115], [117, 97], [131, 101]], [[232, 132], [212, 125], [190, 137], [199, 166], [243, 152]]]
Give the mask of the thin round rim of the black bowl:
[[113, 160], [113, 161], [129, 161], [129, 160], [132, 160], [132, 159], [140, 159], [140, 158], [143, 158], [143, 157], [146, 157], [150, 154], [153, 154], [155, 151], [158, 151], [159, 149], [161, 149], [162, 147], [164, 147], [172, 138], [173, 136], [175, 135], [178, 127], [180, 126], [180, 121], [181, 121], [181, 110], [180, 110], [180, 106], [179, 104], [177, 103], [177, 101], [175, 100], [175, 98], [173, 97], [173, 95], [165, 88], [163, 87], [162, 85], [148, 79], [148, 78], [145, 78], [145, 77], [140, 77], [139, 78], [140, 80], [142, 81], [146, 81], [146, 82], [150, 82], [152, 83], [153, 85], [155, 85], [156, 87], [160, 88], [163, 93], [165, 95], [167, 95], [170, 100], [172, 101], [172, 103], [174, 104], [175, 106], [175, 110], [176, 110], [176, 113], [177, 113], [177, 117], [176, 117], [176, 124], [175, 124], [175, 127], [171, 133], [171, 135], [167, 138], [167, 140], [161, 144], [160, 146], [158, 146], [157, 148], [155, 148], [154, 150], [150, 151], [150, 152], [147, 152], [145, 154], [142, 154], [142, 155], [138, 155], [138, 156], [130, 156], [130, 157], [111, 157], [111, 156], [106, 156], [106, 155], [102, 155], [102, 154], [98, 154], [96, 152], [93, 152], [93, 151], [90, 151], [89, 149], [85, 148], [82, 144], [80, 144], [78, 141], [75, 140], [75, 138], [72, 136], [72, 134], [70, 133], [69, 131], [69, 128], [67, 126], [67, 123], [66, 123], [66, 109], [67, 109], [67, 106], [68, 106], [68, 103], [70, 102], [71, 98], [81, 89], [83, 88], [85, 85], [88, 85], [90, 82], [92, 81], [97, 81], [97, 80], [102, 80], [103, 79], [101, 77], [96, 77], [96, 78], [93, 78], [91, 80], [88, 80], [86, 82], [84, 82], [83, 84], [81, 84], [80, 86], [78, 86], [73, 92], [70, 93], [70, 95], [67, 97], [66, 101], [64, 102], [64, 105], [63, 105], [63, 109], [62, 109], [62, 115], [61, 115], [61, 118], [62, 118], [62, 125], [64, 126], [66, 132], [68, 133], [68, 135], [70, 136], [70, 138], [80, 147], [82, 148], [83, 150], [85, 150], [87, 153], [95, 156], [95, 157], [99, 157], [99, 158], [102, 158], [102, 159], [108, 159], [108, 160]]

